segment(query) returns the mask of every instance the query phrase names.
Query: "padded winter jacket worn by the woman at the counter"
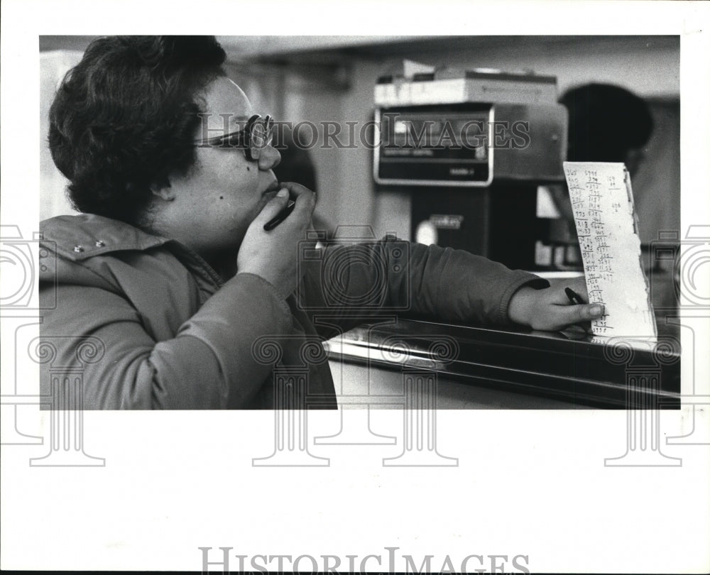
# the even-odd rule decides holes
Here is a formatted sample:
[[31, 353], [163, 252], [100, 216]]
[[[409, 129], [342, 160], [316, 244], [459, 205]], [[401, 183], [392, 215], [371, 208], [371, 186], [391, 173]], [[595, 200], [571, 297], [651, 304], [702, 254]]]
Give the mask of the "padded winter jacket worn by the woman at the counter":
[[[271, 409], [272, 373], [287, 364], [307, 370], [308, 407], [337, 407], [327, 361], [304, 361], [304, 346], [363, 322], [372, 302], [403, 317], [505, 325], [515, 290], [547, 285], [464, 251], [386, 239], [295, 251], [302, 281], [284, 300], [257, 275], [223, 281], [177, 241], [120, 221], [60, 216], [40, 230], [40, 300], [53, 308], [40, 336], [56, 352], [40, 388], [50, 394], [52, 366], [80, 365], [84, 409]], [[87, 339], [100, 358], [77, 357]]]

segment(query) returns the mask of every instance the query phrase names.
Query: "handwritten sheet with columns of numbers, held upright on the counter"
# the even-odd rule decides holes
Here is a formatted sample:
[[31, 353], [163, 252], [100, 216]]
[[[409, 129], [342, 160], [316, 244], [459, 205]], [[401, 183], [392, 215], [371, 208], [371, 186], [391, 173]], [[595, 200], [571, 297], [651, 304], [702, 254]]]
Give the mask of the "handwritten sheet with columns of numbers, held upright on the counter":
[[626, 166], [565, 162], [564, 175], [589, 302], [603, 303], [606, 313], [591, 323], [592, 333], [655, 340], [656, 322], [641, 265], [641, 243]]

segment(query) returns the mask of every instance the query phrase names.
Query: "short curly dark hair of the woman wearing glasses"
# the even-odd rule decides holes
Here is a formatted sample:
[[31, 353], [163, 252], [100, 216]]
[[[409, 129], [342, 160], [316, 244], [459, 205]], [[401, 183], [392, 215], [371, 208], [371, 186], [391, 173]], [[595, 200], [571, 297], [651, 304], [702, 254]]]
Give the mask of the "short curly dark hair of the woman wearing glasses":
[[224, 76], [214, 36], [98, 38], [50, 109], [49, 146], [80, 212], [136, 223], [151, 185], [195, 163], [196, 94]]

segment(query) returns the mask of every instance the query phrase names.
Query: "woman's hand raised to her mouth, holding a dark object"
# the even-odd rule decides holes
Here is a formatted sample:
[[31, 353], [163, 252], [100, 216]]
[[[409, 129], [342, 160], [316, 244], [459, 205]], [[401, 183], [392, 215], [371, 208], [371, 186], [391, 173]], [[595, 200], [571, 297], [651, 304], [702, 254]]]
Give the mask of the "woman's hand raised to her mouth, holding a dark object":
[[[307, 187], [293, 182], [281, 182], [280, 195], [263, 207], [251, 222], [236, 256], [238, 273], [253, 273], [271, 283], [282, 297], [297, 285], [298, 245], [311, 227], [315, 208], [315, 194]], [[283, 191], [288, 193], [283, 193]], [[288, 200], [296, 204], [285, 220], [266, 231], [264, 224], [286, 207]]]

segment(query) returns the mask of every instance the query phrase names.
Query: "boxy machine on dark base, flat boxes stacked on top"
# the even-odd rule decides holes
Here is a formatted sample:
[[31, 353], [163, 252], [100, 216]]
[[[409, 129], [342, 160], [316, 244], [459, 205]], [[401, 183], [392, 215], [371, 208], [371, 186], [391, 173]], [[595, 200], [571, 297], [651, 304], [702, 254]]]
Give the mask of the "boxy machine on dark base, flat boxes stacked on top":
[[552, 256], [550, 220], [537, 217], [538, 187], [564, 185], [567, 110], [555, 77], [388, 76], [375, 102], [374, 179], [410, 195], [414, 241], [510, 268], [575, 268]]

